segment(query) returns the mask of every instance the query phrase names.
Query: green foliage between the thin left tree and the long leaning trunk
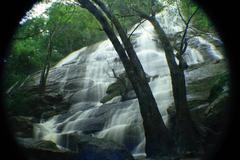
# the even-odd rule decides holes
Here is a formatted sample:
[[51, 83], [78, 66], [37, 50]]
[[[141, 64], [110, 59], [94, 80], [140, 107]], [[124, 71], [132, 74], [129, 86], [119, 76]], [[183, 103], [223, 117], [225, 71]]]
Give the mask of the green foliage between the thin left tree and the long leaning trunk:
[[96, 43], [104, 35], [95, 18], [79, 6], [55, 4], [49, 10], [48, 24], [49, 28], [58, 27], [53, 44], [54, 49], [62, 55]]

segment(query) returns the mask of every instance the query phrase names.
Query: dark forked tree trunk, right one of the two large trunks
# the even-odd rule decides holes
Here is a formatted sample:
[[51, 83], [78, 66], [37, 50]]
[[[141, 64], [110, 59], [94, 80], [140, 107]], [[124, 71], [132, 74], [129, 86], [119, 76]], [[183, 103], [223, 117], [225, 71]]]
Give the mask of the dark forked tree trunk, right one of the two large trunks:
[[173, 97], [176, 108], [176, 142], [178, 144], [178, 151], [194, 151], [199, 149], [199, 133], [196, 126], [191, 119], [188, 103], [187, 103], [187, 91], [184, 75], [183, 61], [180, 59], [179, 65], [175, 61], [175, 55], [173, 47], [171, 46], [167, 35], [160, 26], [156, 17], [149, 17], [148, 19], [154, 26], [154, 29], [158, 35], [159, 40], [165, 51], [167, 63], [170, 70]]

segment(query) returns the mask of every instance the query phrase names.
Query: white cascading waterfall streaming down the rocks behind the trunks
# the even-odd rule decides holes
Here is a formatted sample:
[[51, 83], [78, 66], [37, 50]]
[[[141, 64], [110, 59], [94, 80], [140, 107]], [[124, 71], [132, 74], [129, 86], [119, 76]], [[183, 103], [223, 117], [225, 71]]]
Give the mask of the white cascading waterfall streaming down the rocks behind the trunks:
[[[161, 12], [159, 22], [169, 35], [184, 29], [176, 6]], [[144, 22], [133, 34], [133, 44], [165, 123], [167, 108], [172, 105], [172, 86], [165, 53], [157, 45], [157, 36], [149, 22]], [[215, 38], [215, 37], [214, 37]], [[216, 38], [215, 38], [216, 39]], [[184, 55], [189, 65], [222, 56], [208, 40], [195, 37]], [[62, 135], [88, 134], [124, 144], [133, 154], [144, 154], [145, 136], [137, 99], [120, 101], [115, 97], [107, 104], [100, 100], [107, 87], [115, 81], [112, 68], [122, 73], [123, 67], [111, 42], [105, 40], [70, 54], [51, 69], [48, 78], [50, 92], [61, 92], [71, 104], [69, 111], [35, 125], [35, 137], [62, 145]], [[51, 90], [52, 89], [52, 90]], [[67, 147], [69, 144], [64, 144]]]

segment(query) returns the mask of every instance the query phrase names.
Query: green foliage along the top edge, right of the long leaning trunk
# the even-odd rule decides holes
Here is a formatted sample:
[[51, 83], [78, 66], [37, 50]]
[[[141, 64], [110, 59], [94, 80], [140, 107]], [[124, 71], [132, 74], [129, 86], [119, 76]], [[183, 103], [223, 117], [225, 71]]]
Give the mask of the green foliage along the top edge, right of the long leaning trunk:
[[[159, 13], [166, 6], [178, 3], [181, 13], [187, 20], [198, 8], [198, 5], [193, 0], [105, 0], [104, 2], [108, 4], [108, 7], [120, 19], [120, 22], [126, 29], [140, 21], [136, 11], [151, 15], [152, 11]], [[213, 24], [201, 8], [193, 17], [192, 25], [205, 32], [214, 31]]]

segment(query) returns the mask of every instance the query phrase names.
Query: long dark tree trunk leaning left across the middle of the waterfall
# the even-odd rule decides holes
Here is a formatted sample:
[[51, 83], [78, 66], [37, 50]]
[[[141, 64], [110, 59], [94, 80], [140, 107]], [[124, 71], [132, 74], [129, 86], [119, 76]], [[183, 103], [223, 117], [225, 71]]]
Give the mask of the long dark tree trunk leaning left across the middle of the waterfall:
[[[127, 76], [132, 83], [132, 86], [138, 97], [140, 112], [143, 119], [144, 133], [146, 137], [147, 156], [155, 157], [159, 155], [169, 154], [173, 149], [173, 142], [163, 122], [163, 119], [160, 115], [160, 112], [157, 107], [157, 103], [155, 101], [155, 98], [152, 95], [152, 92], [146, 80], [143, 68], [142, 66], [139, 66], [140, 62], [139, 63], [137, 62], [136, 64], [135, 61], [132, 61], [129, 59], [130, 55], [127, 54], [128, 51], [130, 51], [129, 48], [132, 48], [131, 56], [134, 56], [136, 60], [137, 56], [135, 51], [133, 50], [132, 44], [130, 42], [129, 43], [124, 42], [124, 48], [126, 50], [128, 49], [126, 53], [125, 49], [123, 48], [116, 34], [111, 28], [111, 25], [109, 24], [108, 19], [104, 16], [102, 11], [99, 10], [89, 0], [78, 0], [78, 1], [81, 4], [81, 6], [86, 8], [89, 12], [91, 12], [102, 25], [103, 30], [106, 32], [109, 39], [111, 40], [115, 50], [117, 51], [123, 63]], [[111, 20], [109, 16], [108, 18]], [[121, 27], [120, 23], [119, 24], [113, 23], [113, 24], [117, 25], [117, 27]], [[126, 41], [126, 39], [122, 39], [122, 37], [120, 38], [122, 41]], [[135, 55], [132, 55], [132, 54], [135, 54]], [[143, 76], [143, 73], [144, 73], [144, 76]]]

